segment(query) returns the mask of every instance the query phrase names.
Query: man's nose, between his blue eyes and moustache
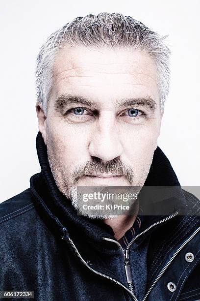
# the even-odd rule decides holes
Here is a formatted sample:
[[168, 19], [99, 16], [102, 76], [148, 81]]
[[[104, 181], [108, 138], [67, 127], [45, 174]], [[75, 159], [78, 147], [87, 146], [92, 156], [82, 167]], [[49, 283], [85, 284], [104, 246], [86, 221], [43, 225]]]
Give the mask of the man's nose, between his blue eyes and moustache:
[[119, 128], [116, 125], [114, 116], [110, 115], [107, 112], [107, 114], [104, 114], [104, 117], [99, 118], [88, 148], [91, 156], [98, 157], [102, 161], [113, 160], [123, 152]]

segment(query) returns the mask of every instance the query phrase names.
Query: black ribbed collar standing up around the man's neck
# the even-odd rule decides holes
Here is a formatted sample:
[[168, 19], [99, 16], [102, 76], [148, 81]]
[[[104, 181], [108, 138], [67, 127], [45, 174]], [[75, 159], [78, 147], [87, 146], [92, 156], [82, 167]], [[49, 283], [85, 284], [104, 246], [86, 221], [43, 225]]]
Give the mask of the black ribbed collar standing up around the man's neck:
[[[107, 241], [102, 239], [103, 237], [114, 238], [112, 228], [101, 220], [77, 215], [74, 207], [71, 205], [71, 201], [64, 197], [57, 188], [50, 170], [47, 147], [40, 132], [38, 132], [36, 138], [36, 148], [41, 172], [31, 177], [30, 188], [36, 207], [41, 217], [48, 224], [48, 227], [60, 235], [62, 233], [62, 225], [64, 225], [70, 237], [74, 240], [81, 240], [83, 244], [87, 240], [88, 243], [96, 245], [98, 250], [101, 248], [102, 251], [107, 250], [112, 253], [113, 244], [111, 247]], [[169, 160], [159, 147], [154, 152], [145, 185], [180, 186]], [[181, 199], [178, 198], [175, 205], [177, 209], [184, 208], [186, 205], [184, 196]], [[161, 219], [161, 217], [145, 216], [141, 231], [153, 222]], [[141, 241], [138, 240], [137, 243], [139, 244]]]

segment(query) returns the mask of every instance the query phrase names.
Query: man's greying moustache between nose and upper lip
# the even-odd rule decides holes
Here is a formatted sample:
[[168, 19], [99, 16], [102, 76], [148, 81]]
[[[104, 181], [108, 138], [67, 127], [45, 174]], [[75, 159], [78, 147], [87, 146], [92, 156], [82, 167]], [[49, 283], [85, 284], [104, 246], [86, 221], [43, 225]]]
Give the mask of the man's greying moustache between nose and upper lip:
[[133, 169], [123, 163], [119, 157], [106, 162], [103, 162], [100, 158], [93, 157], [92, 161], [89, 160], [84, 165], [76, 168], [72, 174], [74, 185], [85, 175], [97, 174], [122, 175], [130, 183], [130, 185], [133, 183]]

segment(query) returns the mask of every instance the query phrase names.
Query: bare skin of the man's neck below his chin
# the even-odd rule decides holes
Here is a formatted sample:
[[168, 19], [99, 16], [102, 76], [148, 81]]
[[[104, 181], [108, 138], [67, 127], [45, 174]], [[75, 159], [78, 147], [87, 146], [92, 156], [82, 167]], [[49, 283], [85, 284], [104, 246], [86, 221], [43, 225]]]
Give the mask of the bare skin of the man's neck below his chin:
[[125, 232], [132, 227], [137, 217], [139, 211], [138, 202], [134, 203], [133, 206], [135, 207], [133, 215], [119, 215], [112, 219], [104, 219], [104, 223], [112, 227], [117, 240], [120, 240], [125, 235]]

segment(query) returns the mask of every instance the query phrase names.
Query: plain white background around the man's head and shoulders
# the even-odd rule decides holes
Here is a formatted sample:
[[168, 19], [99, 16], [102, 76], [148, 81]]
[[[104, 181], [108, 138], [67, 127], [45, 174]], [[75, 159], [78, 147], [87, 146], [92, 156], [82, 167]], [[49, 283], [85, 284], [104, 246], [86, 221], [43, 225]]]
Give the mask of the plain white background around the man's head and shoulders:
[[199, 0], [0, 1], [0, 202], [40, 172], [35, 61], [45, 39], [78, 16], [120, 12], [169, 34], [172, 81], [159, 146], [181, 185], [200, 185]]

